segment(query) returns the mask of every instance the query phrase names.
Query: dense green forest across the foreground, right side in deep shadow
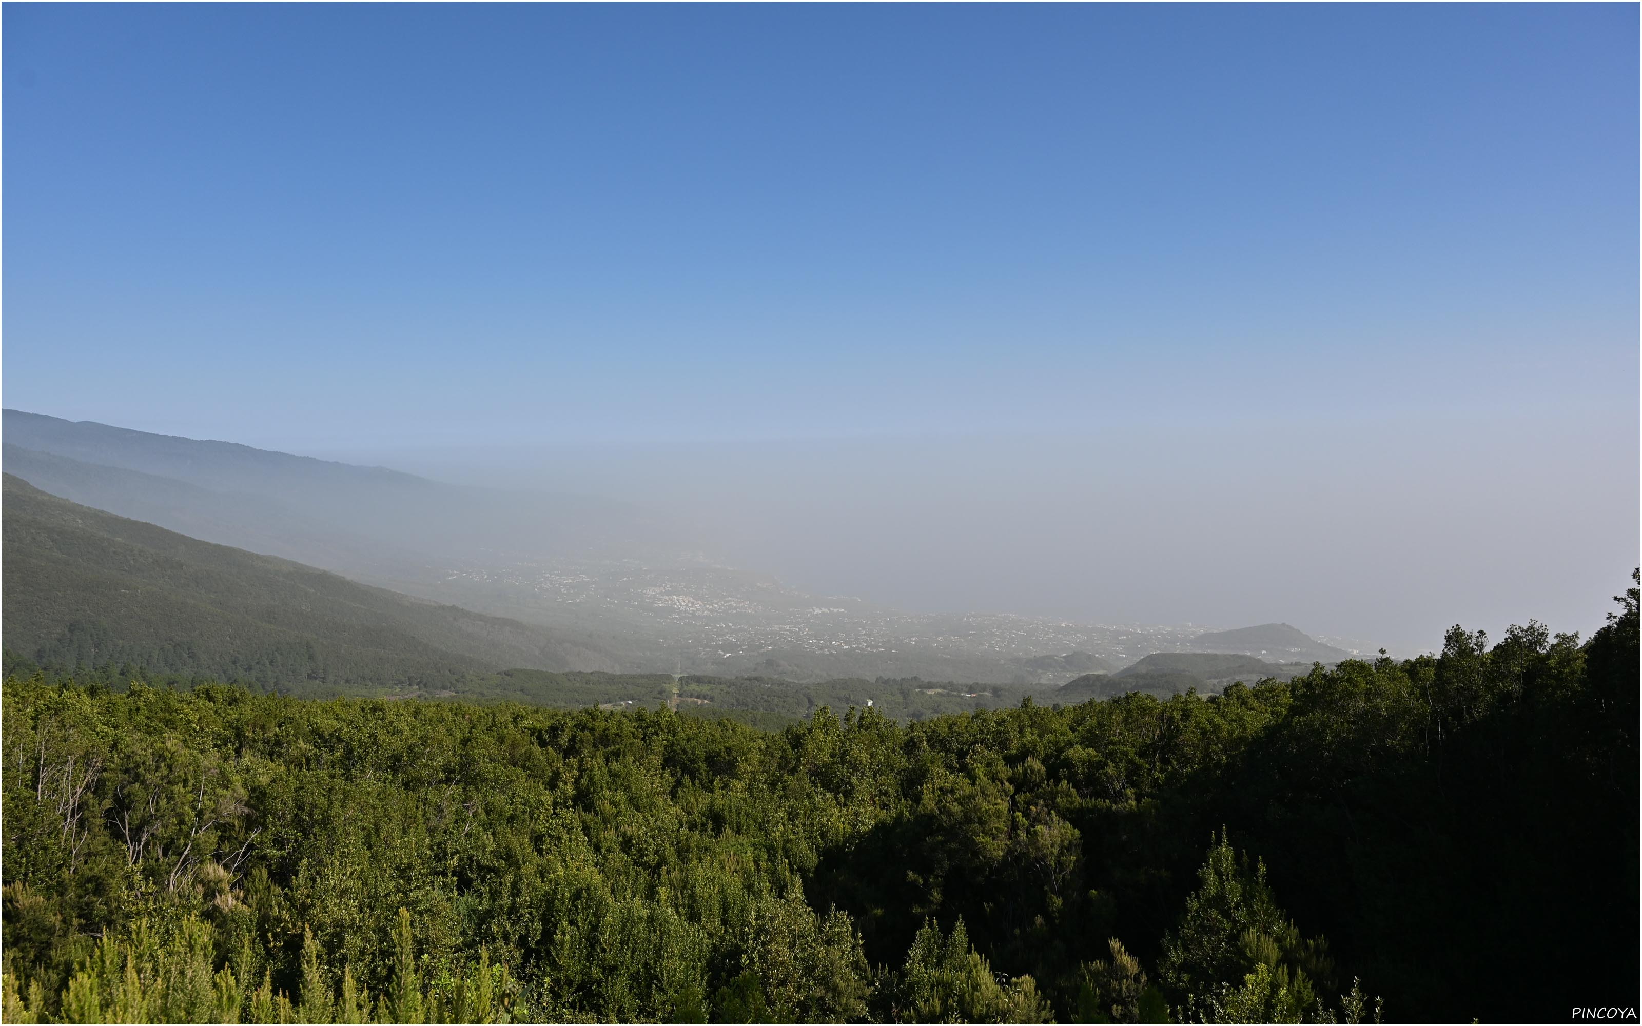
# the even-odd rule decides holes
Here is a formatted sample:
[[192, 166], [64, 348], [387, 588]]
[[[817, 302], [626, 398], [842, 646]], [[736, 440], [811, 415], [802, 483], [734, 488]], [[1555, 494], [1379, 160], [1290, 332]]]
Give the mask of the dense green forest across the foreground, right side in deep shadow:
[[1392, 1021], [1635, 1006], [1589, 642], [780, 732], [5, 681], [10, 1021]]

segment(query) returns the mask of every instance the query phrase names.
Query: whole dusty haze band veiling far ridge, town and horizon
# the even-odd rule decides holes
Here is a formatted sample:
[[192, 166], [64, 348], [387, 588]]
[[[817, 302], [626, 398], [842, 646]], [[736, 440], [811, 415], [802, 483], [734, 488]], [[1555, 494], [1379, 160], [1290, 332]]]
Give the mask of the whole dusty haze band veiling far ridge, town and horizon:
[[[1481, 489], [1468, 502], [1442, 496], [1452, 524], [1419, 512], [1432, 538], [1422, 547], [1397, 524], [1397, 492], [1373, 488], [1386, 460], [1407, 468], [1414, 453], [1386, 435], [1373, 451], [1350, 443], [1337, 435], [1305, 451], [1245, 427], [1105, 443], [502, 443], [350, 465], [5, 414], [5, 471], [36, 488], [547, 627], [578, 653], [547, 668], [795, 681], [1061, 685], [1159, 652], [1309, 665], [1435, 648], [1437, 637], [1399, 634], [1404, 621], [1376, 609], [1376, 575], [1401, 588], [1410, 570], [1486, 563], [1506, 538], [1461, 520], [1504, 499], [1486, 492], [1498, 468], [1448, 484]], [[1514, 515], [1550, 514], [1517, 502]], [[1399, 617], [1422, 612], [1407, 606]], [[1568, 622], [1558, 612], [1581, 614], [1543, 619]], [[1281, 637], [1276, 625], [1291, 622], [1310, 637]], [[1248, 624], [1273, 630], [1199, 640]]]

